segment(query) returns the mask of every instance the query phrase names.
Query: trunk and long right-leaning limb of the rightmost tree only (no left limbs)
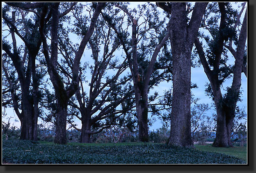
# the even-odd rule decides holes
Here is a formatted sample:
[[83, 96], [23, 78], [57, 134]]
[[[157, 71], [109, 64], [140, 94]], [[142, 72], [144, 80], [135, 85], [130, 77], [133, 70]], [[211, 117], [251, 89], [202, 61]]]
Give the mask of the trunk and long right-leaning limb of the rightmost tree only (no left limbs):
[[[224, 105], [216, 105], [216, 108], [222, 109], [222, 112], [217, 114], [217, 129], [216, 138], [213, 143], [215, 147], [230, 147], [233, 146], [231, 142], [231, 130], [233, 126], [233, 119], [235, 117], [235, 108], [238, 101], [240, 86], [241, 86], [241, 74], [243, 65], [243, 55], [245, 52], [245, 43], [247, 38], [247, 10], [245, 12], [245, 18], [242, 23], [240, 36], [238, 39], [238, 47], [235, 57], [235, 66], [233, 70], [233, 81], [231, 89], [228, 91], [226, 98], [224, 98]], [[217, 112], [218, 113], [218, 112]], [[224, 130], [222, 129], [224, 128]], [[226, 135], [222, 135], [223, 133]]]

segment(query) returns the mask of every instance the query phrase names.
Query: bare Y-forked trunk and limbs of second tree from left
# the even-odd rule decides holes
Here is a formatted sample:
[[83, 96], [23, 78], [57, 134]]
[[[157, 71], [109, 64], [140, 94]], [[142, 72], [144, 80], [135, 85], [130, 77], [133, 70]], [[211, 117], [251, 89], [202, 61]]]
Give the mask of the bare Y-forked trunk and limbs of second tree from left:
[[[98, 15], [103, 9], [105, 3], [99, 2], [94, 5], [95, 11], [94, 15], [91, 18], [91, 24], [82, 38], [80, 46], [78, 50], [75, 52], [75, 58], [73, 59], [72, 65], [72, 82], [70, 85], [65, 88], [62, 78], [57, 72], [57, 59], [58, 59], [58, 28], [59, 28], [59, 20], [61, 17], [66, 15], [69, 11], [71, 11], [72, 6], [75, 4], [71, 4], [71, 7], [64, 11], [63, 13], [59, 12], [59, 2], [50, 3], [45, 5], [42, 9], [41, 18], [40, 18], [40, 35], [43, 42], [43, 54], [46, 58], [46, 63], [48, 67], [48, 74], [50, 76], [50, 80], [53, 83], [53, 87], [55, 89], [55, 96], [57, 99], [57, 113], [56, 113], [56, 135], [55, 135], [55, 144], [66, 144], [66, 116], [67, 116], [67, 104], [69, 99], [75, 94], [76, 90], [78, 90], [78, 72], [79, 72], [79, 63], [82, 57], [82, 54], [85, 50], [85, 46], [87, 45], [89, 38], [94, 32], [94, 28], [96, 25], [96, 20]], [[50, 51], [48, 48], [46, 34], [47, 31], [45, 29], [46, 19], [51, 18], [50, 24], [50, 34], [51, 34], [51, 43], [50, 43]], [[49, 55], [50, 52], [50, 55]]]

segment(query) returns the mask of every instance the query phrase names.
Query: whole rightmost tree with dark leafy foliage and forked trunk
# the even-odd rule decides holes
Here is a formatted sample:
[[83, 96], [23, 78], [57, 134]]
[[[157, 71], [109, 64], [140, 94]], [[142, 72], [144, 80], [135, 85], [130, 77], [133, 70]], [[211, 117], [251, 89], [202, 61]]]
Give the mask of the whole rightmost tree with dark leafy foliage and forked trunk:
[[[244, 6], [245, 4], [243, 4]], [[240, 16], [235, 10], [232, 9], [230, 3], [219, 2], [219, 9], [217, 4], [214, 3], [209, 6], [208, 12], [205, 14], [205, 20], [203, 21], [203, 27], [205, 27], [211, 34], [209, 36], [203, 36], [209, 47], [206, 53], [199, 41], [199, 38], [195, 39], [195, 46], [199, 54], [200, 61], [203, 65], [204, 72], [206, 73], [210, 85], [206, 88], [208, 95], [214, 100], [217, 111], [217, 131], [216, 138], [213, 143], [215, 147], [229, 147], [231, 143], [231, 129], [233, 125], [233, 119], [235, 117], [235, 107], [239, 100], [240, 86], [241, 86], [241, 73], [243, 69], [244, 57], [245, 57], [245, 44], [247, 39], [247, 10], [245, 11], [245, 17], [240, 29], [239, 38], [236, 36], [236, 29], [240, 23]], [[244, 8], [242, 8], [243, 10]], [[215, 17], [209, 16], [210, 11], [217, 11], [220, 13], [220, 23], [216, 26], [218, 21], [218, 14]], [[242, 11], [240, 12], [240, 14]], [[206, 20], [209, 16], [209, 19]], [[233, 26], [233, 24], [235, 24]], [[236, 51], [232, 48], [232, 41], [235, 39]], [[228, 66], [226, 50], [224, 45], [229, 42], [228, 47], [231, 50], [235, 58], [234, 66]], [[231, 87], [227, 88], [226, 94], [222, 95], [221, 86], [222, 83], [231, 78], [233, 74], [233, 81]]]

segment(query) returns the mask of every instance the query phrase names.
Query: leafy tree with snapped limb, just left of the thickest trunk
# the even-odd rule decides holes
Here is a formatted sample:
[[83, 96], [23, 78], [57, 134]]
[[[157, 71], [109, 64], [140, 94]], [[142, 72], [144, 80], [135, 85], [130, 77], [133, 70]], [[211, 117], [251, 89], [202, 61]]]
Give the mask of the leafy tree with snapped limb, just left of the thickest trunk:
[[[113, 5], [121, 9], [123, 13], [127, 15], [127, 29], [131, 26], [132, 30], [130, 40], [128, 40], [130, 33], [128, 33], [127, 29], [123, 29], [122, 25], [115, 24], [116, 19], [109, 17], [107, 13], [103, 14], [103, 18], [109, 23], [110, 27], [114, 29], [128, 58], [128, 65], [135, 92], [139, 140], [147, 142], [149, 140], [148, 93], [149, 89], [160, 81], [159, 78], [161, 75], [158, 76], [159, 78], [151, 79], [151, 77], [153, 76], [152, 74], [159, 69], [165, 70], [162, 75], [170, 72], [168, 67], [155, 68], [158, 53], [165, 45], [169, 34], [167, 31], [161, 30], [164, 21], [160, 21], [158, 11], [153, 4], [138, 6], [138, 11], [135, 9], [130, 11], [126, 4], [113, 3]], [[144, 17], [142, 17], [143, 15]], [[158, 23], [155, 21], [158, 21]], [[147, 40], [150, 40], [150, 42], [147, 42]]]

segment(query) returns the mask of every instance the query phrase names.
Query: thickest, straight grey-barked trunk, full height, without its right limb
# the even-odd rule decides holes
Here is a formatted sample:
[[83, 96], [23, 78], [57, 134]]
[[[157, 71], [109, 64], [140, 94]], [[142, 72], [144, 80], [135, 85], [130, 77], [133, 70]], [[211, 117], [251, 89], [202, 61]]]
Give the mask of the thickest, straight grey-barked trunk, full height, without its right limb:
[[185, 3], [172, 3], [171, 52], [173, 55], [173, 100], [169, 144], [191, 146], [191, 60], [187, 45]]

